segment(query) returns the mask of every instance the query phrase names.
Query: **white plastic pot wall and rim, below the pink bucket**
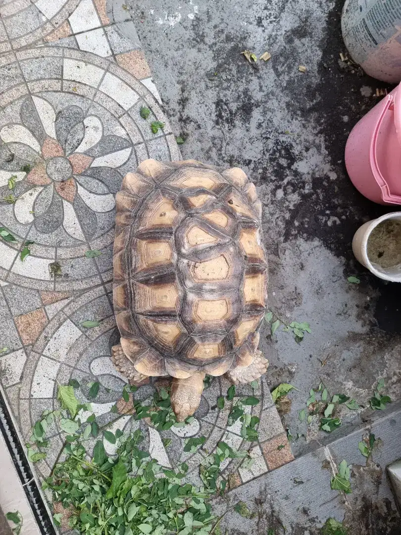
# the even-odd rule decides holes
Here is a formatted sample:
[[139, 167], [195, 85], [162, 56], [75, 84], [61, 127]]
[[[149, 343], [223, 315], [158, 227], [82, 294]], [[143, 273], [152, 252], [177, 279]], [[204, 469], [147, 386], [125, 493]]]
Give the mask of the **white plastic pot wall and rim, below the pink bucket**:
[[364, 225], [358, 228], [352, 240], [352, 251], [358, 262], [371, 271], [376, 277], [391, 282], [401, 282], [401, 266], [396, 265], [391, 268], [382, 268], [379, 264], [371, 262], [367, 255], [367, 242], [373, 229], [387, 219], [395, 219], [401, 221], [401, 212], [386, 213], [384, 216], [367, 221]]

